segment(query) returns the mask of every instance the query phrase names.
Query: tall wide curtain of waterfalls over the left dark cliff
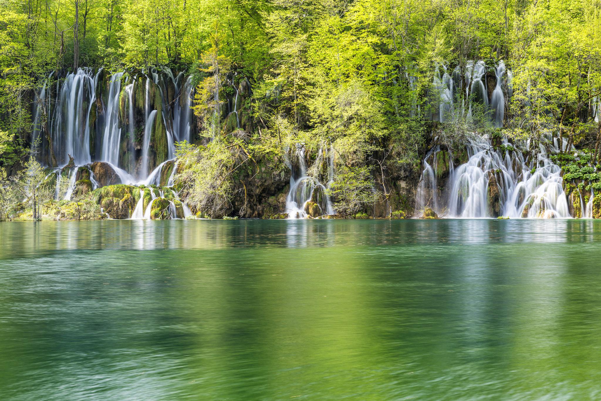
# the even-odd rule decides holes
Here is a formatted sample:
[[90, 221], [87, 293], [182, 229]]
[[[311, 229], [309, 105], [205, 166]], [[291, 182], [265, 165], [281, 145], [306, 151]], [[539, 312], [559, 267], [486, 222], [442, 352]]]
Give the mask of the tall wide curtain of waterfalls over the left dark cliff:
[[[55, 198], [57, 200], [59, 194], [63, 193], [60, 188], [61, 178], [67, 174], [69, 188], [61, 198], [70, 199], [75, 189], [78, 168], [82, 166], [86, 166], [90, 171], [92, 188], [99, 188], [100, 184], [91, 167], [92, 162], [104, 162], [106, 167], [101, 168], [109, 167], [121, 183], [141, 185], [151, 182], [157, 186], [165, 185], [160, 177], [166, 162], [160, 163], [152, 172], [149, 171], [151, 158], [154, 155], [151, 153], [154, 145], [151, 134], [153, 127], [158, 123], [156, 120], [158, 112], [153, 110], [156, 98], [154, 94], [151, 96], [153, 93], [151, 85], [156, 85], [154, 89], [159, 92], [157, 96], [160, 96], [162, 105], [161, 118], [166, 127], [167, 161], [175, 159], [174, 141], [191, 142], [192, 140], [191, 105], [194, 85], [191, 76], [186, 77], [182, 72], [174, 76], [169, 69], [162, 69], [160, 72], [153, 69], [146, 76], [144, 84], [143, 81], [138, 83], [136, 76], [128, 78], [126, 82], [123, 77], [124, 72], [117, 72], [106, 79], [108, 83], [105, 92], [102, 85], [105, 85], [106, 81], [99, 78], [105, 75], [101, 75], [101, 72], [102, 69], [99, 69], [94, 74], [91, 69], [86, 68], [63, 76], [60, 72], [52, 72], [34, 93], [31, 143], [32, 147], [37, 142], [40, 144], [37, 153], [42, 164], [54, 164], [54, 159], [50, 156], [52, 154], [55, 156], [56, 164], [48, 177], [50, 178], [51, 174], [56, 176]], [[56, 85], [52, 81], [55, 74]], [[166, 82], [173, 84], [168, 90], [166, 90]], [[136, 85], [144, 85], [145, 126], [144, 136], [139, 139], [135, 136], [135, 94], [138, 93]], [[53, 93], [56, 96], [53, 96]], [[172, 102], [166, 99], [167, 93], [173, 96]], [[45, 123], [46, 116], [48, 116], [47, 133], [42, 135], [42, 124]], [[94, 120], [91, 120], [92, 116]], [[94, 129], [96, 139], [91, 138], [91, 129]], [[94, 141], [93, 147], [90, 144], [91, 140]], [[52, 153], [48, 153], [50, 144]], [[32, 150], [35, 151], [34, 148]], [[63, 167], [70, 161], [69, 156], [73, 158], [73, 167], [64, 169]], [[167, 185], [173, 185], [174, 175], [175, 168], [168, 177]], [[186, 213], [191, 215], [189, 208], [183, 206], [185, 215]], [[175, 210], [174, 205], [172, 209]], [[172, 216], [175, 218], [174, 213]]]

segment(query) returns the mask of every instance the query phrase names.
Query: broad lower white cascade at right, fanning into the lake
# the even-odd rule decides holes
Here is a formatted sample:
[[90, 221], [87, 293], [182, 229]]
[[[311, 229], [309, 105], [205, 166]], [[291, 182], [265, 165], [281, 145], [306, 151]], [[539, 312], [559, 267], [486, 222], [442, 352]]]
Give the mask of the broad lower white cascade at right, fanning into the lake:
[[[507, 141], [504, 147], [505, 155], [485, 139], [468, 146], [468, 162], [450, 175], [448, 215], [460, 218], [570, 217], [561, 168], [548, 158], [545, 148], [541, 145], [537, 158], [528, 161]], [[431, 170], [424, 168], [424, 176], [432, 176]], [[424, 188], [428, 188], [427, 185], [436, 186], [436, 183], [424, 183]], [[419, 196], [418, 189], [418, 203]]]

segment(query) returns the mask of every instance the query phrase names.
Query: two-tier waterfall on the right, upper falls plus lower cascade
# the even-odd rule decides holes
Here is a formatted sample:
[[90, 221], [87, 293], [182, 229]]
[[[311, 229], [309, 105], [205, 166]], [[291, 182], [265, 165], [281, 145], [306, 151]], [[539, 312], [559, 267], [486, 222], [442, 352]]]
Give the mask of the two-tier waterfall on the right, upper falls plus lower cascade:
[[[469, 99], [468, 117], [477, 103], [484, 112], [490, 111], [496, 127], [502, 127], [505, 99], [513, 93], [513, 75], [506, 69], [505, 63], [499, 61], [495, 67], [496, 85], [490, 102], [485, 75], [486, 64], [483, 61], [467, 63], [464, 78], [465, 95]], [[451, 75], [448, 75], [445, 66], [436, 69], [434, 85], [441, 96], [437, 106], [442, 122], [445, 121], [445, 114], [456, 107], [453, 105], [453, 91], [457, 82], [460, 82], [460, 76], [459, 67]], [[507, 93], [504, 93], [504, 87]], [[436, 176], [439, 171], [438, 155], [442, 149], [438, 145], [433, 147], [424, 158], [416, 195], [416, 212], [430, 207], [439, 214], [462, 218], [501, 215], [511, 218], [570, 217], [561, 168], [549, 159], [547, 153], [548, 148], [552, 152], [558, 152], [559, 149], [557, 143], [549, 139], [547, 142], [547, 147], [540, 144], [538, 148], [529, 148], [531, 144], [528, 142], [526, 150], [538, 155], [528, 159], [524, 157], [525, 153], [519, 152], [507, 141], [495, 148], [492, 141], [482, 138], [468, 145], [467, 162], [454, 167], [453, 158], [450, 158], [448, 182], [445, 183], [437, 182]], [[446, 198], [439, 197], [438, 188], [447, 188]], [[441, 201], [444, 204], [439, 204]], [[592, 203], [590, 207], [587, 205], [583, 215], [591, 214]]]

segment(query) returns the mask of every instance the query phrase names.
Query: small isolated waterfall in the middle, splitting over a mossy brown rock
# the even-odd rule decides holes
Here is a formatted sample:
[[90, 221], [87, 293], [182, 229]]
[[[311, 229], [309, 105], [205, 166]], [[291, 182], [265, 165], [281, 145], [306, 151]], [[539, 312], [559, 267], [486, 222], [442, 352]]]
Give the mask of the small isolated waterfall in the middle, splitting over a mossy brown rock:
[[[290, 161], [287, 161], [287, 165], [292, 171], [290, 176], [290, 192], [288, 192], [286, 197], [286, 213], [288, 213], [288, 218], [306, 218], [308, 213], [305, 207], [310, 201], [319, 206], [320, 214], [333, 214], [334, 208], [326, 193], [326, 187], [314, 177], [307, 175], [305, 146], [297, 144], [294, 155], [298, 162], [298, 169]], [[316, 164], [320, 162], [318, 160]]]

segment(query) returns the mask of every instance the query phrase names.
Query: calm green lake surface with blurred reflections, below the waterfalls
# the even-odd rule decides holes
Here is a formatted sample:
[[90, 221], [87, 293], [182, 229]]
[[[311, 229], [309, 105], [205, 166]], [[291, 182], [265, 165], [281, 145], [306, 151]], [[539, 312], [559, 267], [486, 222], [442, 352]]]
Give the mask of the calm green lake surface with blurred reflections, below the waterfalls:
[[2, 400], [599, 400], [601, 221], [0, 223]]

